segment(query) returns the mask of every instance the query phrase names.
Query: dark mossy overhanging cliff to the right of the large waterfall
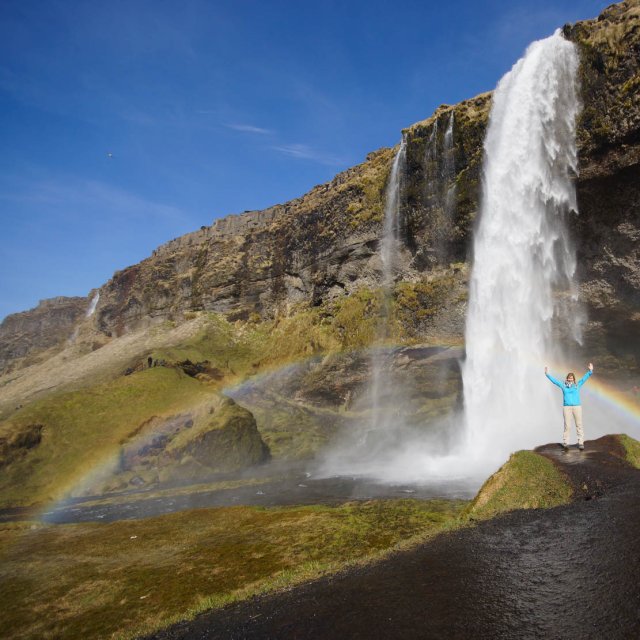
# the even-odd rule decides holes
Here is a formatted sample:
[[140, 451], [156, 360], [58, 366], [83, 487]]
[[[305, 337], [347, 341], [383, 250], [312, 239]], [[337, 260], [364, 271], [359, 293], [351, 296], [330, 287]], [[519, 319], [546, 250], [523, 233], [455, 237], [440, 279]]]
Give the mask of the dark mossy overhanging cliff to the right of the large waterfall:
[[567, 26], [581, 54], [583, 110], [572, 219], [587, 344], [640, 367], [640, 2]]

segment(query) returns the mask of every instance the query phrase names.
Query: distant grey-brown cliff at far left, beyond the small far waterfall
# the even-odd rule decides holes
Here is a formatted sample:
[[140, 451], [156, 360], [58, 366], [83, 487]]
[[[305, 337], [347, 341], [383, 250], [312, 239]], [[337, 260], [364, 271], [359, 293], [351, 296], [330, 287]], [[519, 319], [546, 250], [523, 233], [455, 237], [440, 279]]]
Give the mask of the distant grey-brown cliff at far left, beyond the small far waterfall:
[[0, 324], [0, 373], [19, 358], [68, 340], [88, 305], [87, 298], [58, 297], [42, 300], [30, 311], [7, 316]]

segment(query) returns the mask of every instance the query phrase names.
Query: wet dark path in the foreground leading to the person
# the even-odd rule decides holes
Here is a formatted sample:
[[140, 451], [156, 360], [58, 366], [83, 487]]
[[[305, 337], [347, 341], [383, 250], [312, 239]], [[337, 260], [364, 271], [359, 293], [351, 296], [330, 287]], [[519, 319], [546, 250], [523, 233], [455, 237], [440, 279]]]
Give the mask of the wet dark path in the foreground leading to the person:
[[152, 636], [246, 639], [640, 637], [640, 472], [605, 437], [538, 451], [577, 488], [362, 569]]

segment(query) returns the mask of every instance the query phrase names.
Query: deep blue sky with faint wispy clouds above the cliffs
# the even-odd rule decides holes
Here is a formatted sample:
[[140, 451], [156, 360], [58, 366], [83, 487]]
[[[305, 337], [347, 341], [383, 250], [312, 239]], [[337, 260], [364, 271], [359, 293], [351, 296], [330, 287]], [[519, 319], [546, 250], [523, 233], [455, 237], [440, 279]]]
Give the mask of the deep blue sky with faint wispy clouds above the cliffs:
[[582, 0], [2, 0], [0, 319], [493, 89]]

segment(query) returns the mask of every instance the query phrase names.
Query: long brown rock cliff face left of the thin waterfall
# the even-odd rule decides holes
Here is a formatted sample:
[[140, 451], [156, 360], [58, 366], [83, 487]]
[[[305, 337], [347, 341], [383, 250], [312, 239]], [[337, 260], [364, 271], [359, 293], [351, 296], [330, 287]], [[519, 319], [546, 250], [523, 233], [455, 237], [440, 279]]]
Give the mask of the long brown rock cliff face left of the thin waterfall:
[[271, 316], [376, 282], [392, 156], [383, 149], [298, 200], [229, 216], [161, 246], [102, 287], [100, 329], [121, 335], [202, 309]]

